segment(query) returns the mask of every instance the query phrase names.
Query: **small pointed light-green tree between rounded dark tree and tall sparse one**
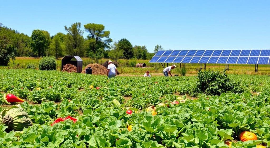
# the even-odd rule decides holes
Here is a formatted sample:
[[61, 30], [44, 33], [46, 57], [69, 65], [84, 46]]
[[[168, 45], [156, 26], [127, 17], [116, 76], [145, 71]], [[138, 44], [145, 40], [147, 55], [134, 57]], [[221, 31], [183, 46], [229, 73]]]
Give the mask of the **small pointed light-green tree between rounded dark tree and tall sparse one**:
[[52, 38], [52, 42], [50, 44], [50, 53], [52, 55], [54, 55], [54, 57], [56, 59], [58, 59], [59, 57], [62, 57], [63, 56], [63, 47], [64, 44], [63, 44], [63, 41], [61, 40], [60, 36], [59, 35], [55, 35], [53, 38]]

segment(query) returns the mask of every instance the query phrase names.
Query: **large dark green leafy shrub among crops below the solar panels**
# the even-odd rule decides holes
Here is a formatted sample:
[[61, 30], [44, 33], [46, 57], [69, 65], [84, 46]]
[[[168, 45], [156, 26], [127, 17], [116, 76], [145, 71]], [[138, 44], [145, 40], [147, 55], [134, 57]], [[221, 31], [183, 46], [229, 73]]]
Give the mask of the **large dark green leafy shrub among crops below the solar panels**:
[[197, 87], [194, 89], [193, 96], [198, 93], [207, 95], [219, 95], [226, 91], [242, 93], [244, 90], [240, 82], [234, 82], [228, 78], [225, 71], [201, 71], [198, 73]]

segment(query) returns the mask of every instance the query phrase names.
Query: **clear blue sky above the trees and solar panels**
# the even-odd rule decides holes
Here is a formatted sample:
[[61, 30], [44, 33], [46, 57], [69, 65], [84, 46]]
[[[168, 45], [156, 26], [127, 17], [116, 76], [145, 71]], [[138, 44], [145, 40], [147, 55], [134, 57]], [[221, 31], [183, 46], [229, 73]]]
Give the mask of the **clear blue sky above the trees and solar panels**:
[[[103, 24], [113, 40], [164, 50], [270, 49], [269, 0], [12, 1], [0, 0], [0, 22], [31, 36], [64, 26]], [[87, 36], [87, 33], [84, 33]]]

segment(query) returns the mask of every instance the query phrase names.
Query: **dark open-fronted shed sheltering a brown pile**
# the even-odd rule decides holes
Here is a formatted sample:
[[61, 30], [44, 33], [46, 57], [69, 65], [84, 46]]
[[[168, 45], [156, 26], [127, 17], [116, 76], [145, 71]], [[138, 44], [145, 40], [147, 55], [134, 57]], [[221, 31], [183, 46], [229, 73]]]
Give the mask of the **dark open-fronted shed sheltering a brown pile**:
[[63, 66], [66, 64], [72, 64], [77, 67], [77, 72], [82, 72], [83, 60], [79, 56], [66, 55], [62, 59], [61, 71], [63, 71]]

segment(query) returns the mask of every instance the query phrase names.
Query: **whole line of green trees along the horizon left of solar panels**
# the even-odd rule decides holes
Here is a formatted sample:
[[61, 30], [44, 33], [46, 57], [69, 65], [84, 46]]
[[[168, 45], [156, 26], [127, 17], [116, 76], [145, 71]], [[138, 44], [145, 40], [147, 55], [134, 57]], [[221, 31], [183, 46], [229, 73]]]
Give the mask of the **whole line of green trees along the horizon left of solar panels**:
[[[82, 26], [80, 22], [71, 26], [64, 26], [65, 33], [50, 35], [46, 30], [33, 30], [31, 36], [17, 30], [3, 26], [0, 23], [0, 57], [6, 61], [14, 57], [44, 57], [54, 56], [56, 59], [64, 55], [89, 57], [98, 62], [101, 58], [112, 58], [115, 61], [124, 59], [151, 59], [154, 53], [147, 51], [146, 46], [133, 46], [129, 40], [123, 38], [112, 41], [110, 31], [105, 30], [103, 24], [88, 23]], [[83, 37], [83, 31], [87, 37]], [[163, 50], [157, 45], [154, 52]]]

